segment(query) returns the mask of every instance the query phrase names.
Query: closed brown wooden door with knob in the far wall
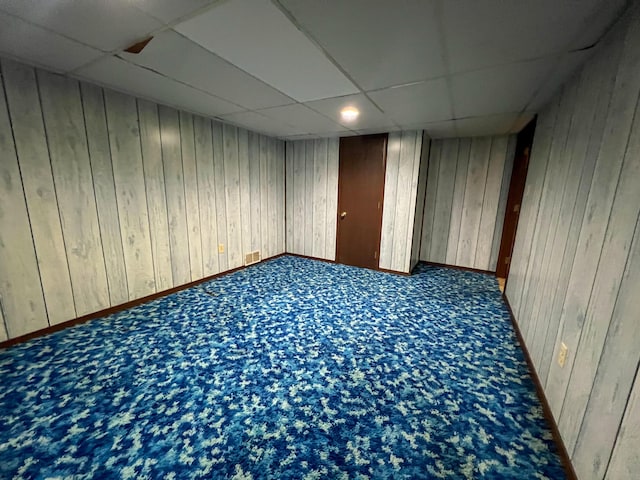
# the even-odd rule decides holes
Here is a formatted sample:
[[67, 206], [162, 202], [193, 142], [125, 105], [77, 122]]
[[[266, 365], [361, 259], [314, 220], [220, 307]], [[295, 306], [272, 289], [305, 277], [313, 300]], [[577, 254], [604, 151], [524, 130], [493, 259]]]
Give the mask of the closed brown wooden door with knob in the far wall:
[[336, 261], [378, 268], [387, 134], [340, 139]]

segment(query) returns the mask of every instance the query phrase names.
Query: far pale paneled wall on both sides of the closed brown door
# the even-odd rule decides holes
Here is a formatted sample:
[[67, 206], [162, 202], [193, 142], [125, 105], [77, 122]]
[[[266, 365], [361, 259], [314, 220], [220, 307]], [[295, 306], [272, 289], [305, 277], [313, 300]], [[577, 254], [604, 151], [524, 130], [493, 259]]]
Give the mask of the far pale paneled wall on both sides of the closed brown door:
[[[408, 272], [422, 132], [389, 134], [380, 267]], [[287, 142], [287, 252], [335, 260], [338, 138]]]

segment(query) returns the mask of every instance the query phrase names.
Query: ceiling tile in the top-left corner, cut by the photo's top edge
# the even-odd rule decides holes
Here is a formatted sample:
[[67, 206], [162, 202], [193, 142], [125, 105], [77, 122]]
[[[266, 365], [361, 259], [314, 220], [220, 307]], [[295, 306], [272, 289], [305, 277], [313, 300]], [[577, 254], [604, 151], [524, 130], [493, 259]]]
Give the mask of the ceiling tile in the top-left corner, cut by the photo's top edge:
[[0, 10], [104, 51], [126, 48], [161, 26], [128, 0], [0, 0]]

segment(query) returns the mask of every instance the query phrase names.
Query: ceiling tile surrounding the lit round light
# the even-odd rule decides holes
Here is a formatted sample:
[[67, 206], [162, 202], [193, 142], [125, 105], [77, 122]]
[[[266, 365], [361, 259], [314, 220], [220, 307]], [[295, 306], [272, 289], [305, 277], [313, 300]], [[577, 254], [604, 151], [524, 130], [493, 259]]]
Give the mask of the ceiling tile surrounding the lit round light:
[[[351, 130], [362, 130], [367, 128], [393, 128], [393, 121], [386, 117], [367, 97], [363, 94], [347, 95], [345, 97], [325, 98], [315, 102], [307, 102], [306, 106], [325, 117], [331, 118], [334, 122], [340, 123]], [[360, 115], [353, 122], [346, 122], [340, 116], [340, 110], [345, 107], [355, 107], [360, 111]]]

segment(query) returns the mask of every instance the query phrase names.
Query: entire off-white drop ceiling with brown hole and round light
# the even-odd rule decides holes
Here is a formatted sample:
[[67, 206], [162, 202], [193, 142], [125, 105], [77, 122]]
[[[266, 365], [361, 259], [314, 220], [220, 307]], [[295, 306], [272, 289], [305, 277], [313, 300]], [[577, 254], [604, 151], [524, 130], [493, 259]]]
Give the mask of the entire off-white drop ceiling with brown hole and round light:
[[0, 55], [285, 139], [505, 134], [626, 3], [0, 0]]

